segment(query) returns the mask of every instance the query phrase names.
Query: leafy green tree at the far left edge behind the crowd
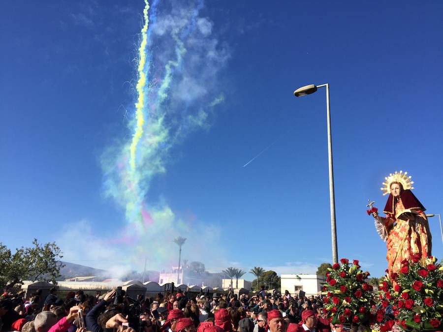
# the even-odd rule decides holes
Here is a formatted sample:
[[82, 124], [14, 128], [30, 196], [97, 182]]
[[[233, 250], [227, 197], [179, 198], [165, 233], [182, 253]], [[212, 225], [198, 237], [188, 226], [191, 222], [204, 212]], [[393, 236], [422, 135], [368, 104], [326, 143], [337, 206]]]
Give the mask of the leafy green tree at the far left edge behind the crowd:
[[32, 241], [32, 247], [17, 248], [12, 253], [0, 242], [0, 287], [13, 287], [23, 284], [23, 280], [43, 280], [57, 283], [64, 267], [60, 259], [61, 250], [55, 242], [44, 245], [37, 239]]

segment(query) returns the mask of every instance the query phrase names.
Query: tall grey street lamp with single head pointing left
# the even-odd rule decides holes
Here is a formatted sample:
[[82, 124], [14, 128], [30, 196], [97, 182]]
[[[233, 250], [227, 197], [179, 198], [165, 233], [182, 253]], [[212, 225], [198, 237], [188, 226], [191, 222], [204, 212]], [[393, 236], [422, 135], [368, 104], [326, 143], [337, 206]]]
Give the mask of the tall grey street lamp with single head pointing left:
[[294, 91], [296, 97], [302, 97], [317, 91], [317, 88], [326, 87], [326, 116], [328, 121], [328, 159], [329, 159], [329, 201], [331, 205], [331, 238], [332, 260], [338, 263], [337, 253], [337, 228], [335, 222], [335, 195], [334, 195], [334, 172], [332, 167], [332, 136], [331, 136], [331, 113], [329, 107], [329, 83], [322, 85], [307, 85]]

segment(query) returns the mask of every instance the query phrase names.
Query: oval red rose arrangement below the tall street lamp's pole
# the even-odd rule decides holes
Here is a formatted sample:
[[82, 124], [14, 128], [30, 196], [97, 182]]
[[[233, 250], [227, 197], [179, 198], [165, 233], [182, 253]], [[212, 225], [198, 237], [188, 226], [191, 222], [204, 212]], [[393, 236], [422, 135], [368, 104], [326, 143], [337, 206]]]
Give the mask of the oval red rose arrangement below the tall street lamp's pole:
[[366, 323], [370, 317], [373, 301], [373, 288], [365, 279], [369, 272], [362, 272], [357, 260], [349, 264], [342, 258], [342, 263], [335, 263], [326, 273], [323, 286], [324, 306], [332, 324]]

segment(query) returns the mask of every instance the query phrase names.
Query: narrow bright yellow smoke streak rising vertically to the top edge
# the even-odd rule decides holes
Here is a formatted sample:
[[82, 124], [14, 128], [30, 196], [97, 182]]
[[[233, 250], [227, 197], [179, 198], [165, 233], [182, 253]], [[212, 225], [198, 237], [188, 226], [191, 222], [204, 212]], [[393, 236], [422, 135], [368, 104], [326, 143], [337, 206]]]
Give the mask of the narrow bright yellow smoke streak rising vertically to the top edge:
[[137, 126], [135, 128], [134, 135], [132, 136], [132, 142], [130, 146], [130, 159], [129, 164], [131, 166], [131, 171], [135, 171], [135, 151], [137, 150], [137, 144], [138, 141], [140, 141], [140, 138], [143, 135], [143, 123], [145, 122], [143, 109], [145, 107], [145, 93], [143, 91], [143, 88], [146, 84], [146, 74], [144, 73], [144, 68], [146, 64], [146, 44], [148, 43], [148, 9], [149, 9], [149, 3], [148, 0], [145, 0], [145, 9], [143, 9], [143, 16], [145, 19], [145, 24], [143, 25], [143, 28], [141, 30], [142, 34], [142, 42], [140, 44], [140, 48], [138, 49], [139, 53], [139, 62], [138, 62], [138, 82], [137, 82], [137, 93], [138, 93], [138, 99], [135, 103], [135, 119], [137, 122]]

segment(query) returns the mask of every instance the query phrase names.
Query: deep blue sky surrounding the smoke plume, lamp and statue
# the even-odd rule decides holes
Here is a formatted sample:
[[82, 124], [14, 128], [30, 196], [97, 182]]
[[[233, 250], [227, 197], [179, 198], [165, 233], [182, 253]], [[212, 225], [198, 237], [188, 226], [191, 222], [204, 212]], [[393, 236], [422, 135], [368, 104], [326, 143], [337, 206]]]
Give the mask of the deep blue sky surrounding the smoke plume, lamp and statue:
[[[159, 1], [154, 64], [174, 52], [158, 32], [174, 11], [196, 10], [203, 24], [190, 33], [201, 47], [188, 49], [173, 76], [170, 112], [204, 108], [208, 117], [185, 126], [162, 159], [166, 172], [149, 179], [145, 202], [169, 207], [174, 218], [155, 246], [148, 230], [137, 242], [143, 253], [134, 253], [118, 241], [131, 225], [104, 194], [101, 162], [132, 135], [143, 7], [141, 0], [3, 4], [4, 244], [36, 237], [57, 241], [74, 263], [140, 271], [148, 257], [149, 268], [167, 268], [177, 259], [171, 240], [180, 220], [189, 238], [182, 257], [211, 271], [315, 272], [331, 261], [326, 105], [324, 88], [293, 96], [306, 84], [330, 84], [339, 257], [384, 272], [385, 244], [365, 206], [370, 198], [384, 207], [381, 182], [395, 170], [412, 175], [428, 213], [443, 213], [443, 3]], [[191, 61], [210, 50], [214, 62]], [[185, 77], [195, 87], [183, 90]], [[224, 101], [209, 110], [219, 95]], [[441, 259], [437, 217], [430, 226]]]

